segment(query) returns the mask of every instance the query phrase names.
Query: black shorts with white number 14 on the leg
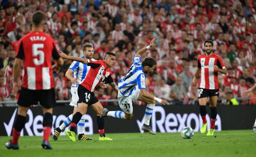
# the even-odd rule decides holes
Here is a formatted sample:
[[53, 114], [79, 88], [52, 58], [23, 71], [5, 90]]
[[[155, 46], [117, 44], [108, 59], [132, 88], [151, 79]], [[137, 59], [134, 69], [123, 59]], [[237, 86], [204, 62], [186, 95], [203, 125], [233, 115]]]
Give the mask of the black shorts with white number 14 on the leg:
[[83, 102], [83, 103], [87, 104], [88, 106], [98, 102], [98, 99], [94, 95], [94, 93], [89, 91], [87, 88], [85, 88], [81, 84], [78, 86], [78, 97], [79, 97], [79, 100], [77, 103]]

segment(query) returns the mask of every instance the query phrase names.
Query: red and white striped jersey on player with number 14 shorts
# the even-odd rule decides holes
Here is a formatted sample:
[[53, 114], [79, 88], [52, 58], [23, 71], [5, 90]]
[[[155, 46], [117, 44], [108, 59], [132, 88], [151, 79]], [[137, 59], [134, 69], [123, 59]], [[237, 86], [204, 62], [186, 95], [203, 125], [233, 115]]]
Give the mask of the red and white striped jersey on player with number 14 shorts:
[[107, 68], [103, 60], [88, 60], [87, 65], [91, 66], [91, 69], [85, 79], [82, 80], [81, 85], [89, 91], [94, 92], [104, 79], [107, 79], [106, 82], [108, 83], [114, 82], [111, 77], [111, 70]]

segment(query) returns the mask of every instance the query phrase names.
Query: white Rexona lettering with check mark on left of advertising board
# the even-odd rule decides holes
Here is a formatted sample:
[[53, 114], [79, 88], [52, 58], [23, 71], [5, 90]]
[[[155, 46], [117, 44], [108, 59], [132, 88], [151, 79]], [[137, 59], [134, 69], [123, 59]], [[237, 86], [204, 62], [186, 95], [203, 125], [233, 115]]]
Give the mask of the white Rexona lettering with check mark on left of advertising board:
[[[14, 125], [14, 119], [17, 113], [17, 109], [15, 109], [13, 115], [11, 116], [11, 119], [9, 121], [8, 124], [6, 124], [4, 122], [4, 126], [5, 126], [5, 130], [7, 132], [7, 135], [10, 136], [11, 135], [11, 131], [12, 131], [12, 127]], [[42, 115], [37, 115], [36, 117], [33, 116], [32, 111], [29, 109], [27, 111], [27, 115], [28, 115], [28, 122], [25, 124], [25, 127], [21, 130], [21, 136], [24, 135], [24, 129], [27, 132], [27, 135], [29, 136], [43, 136], [43, 116]], [[53, 129], [55, 127], [60, 126], [60, 124], [66, 119], [65, 115], [53, 115], [53, 126], [52, 126], [52, 134], [54, 134]], [[87, 135], [91, 135], [93, 134], [93, 122], [92, 122], [92, 118], [90, 115], [86, 115], [85, 117], [85, 128], [87, 128], [85, 130], [85, 133]], [[68, 129], [68, 127], [66, 128], [66, 130]], [[65, 135], [64, 132], [62, 132], [60, 135]]]

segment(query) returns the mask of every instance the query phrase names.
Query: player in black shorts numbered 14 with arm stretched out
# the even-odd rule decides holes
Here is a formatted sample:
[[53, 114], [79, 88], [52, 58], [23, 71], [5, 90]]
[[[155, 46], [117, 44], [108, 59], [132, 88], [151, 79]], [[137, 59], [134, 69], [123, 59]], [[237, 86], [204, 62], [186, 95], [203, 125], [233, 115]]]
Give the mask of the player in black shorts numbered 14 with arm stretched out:
[[110, 84], [116, 91], [118, 91], [118, 86], [111, 77], [110, 67], [114, 66], [116, 55], [110, 51], [105, 54], [103, 60], [88, 60], [85, 58], [67, 56], [65, 53], [60, 53], [61, 57], [68, 60], [74, 60], [87, 64], [91, 66], [91, 69], [85, 79], [78, 86], [78, 111], [74, 114], [73, 119], [70, 124], [70, 130], [66, 131], [66, 134], [72, 141], [75, 141], [75, 127], [87, 111], [87, 107], [91, 106], [97, 113], [97, 123], [100, 133], [99, 140], [112, 140], [109, 137], [105, 136], [104, 133], [104, 119], [101, 119], [99, 116], [103, 114], [103, 106], [98, 101], [94, 95], [94, 90], [99, 86], [99, 84], [105, 80], [106, 83]]

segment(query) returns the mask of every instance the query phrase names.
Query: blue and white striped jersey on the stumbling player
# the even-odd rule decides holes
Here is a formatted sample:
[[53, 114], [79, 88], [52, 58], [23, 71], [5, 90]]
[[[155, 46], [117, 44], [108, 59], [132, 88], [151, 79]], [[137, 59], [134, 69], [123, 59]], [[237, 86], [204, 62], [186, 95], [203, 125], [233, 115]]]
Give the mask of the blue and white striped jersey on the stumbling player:
[[143, 72], [141, 57], [135, 56], [133, 58], [133, 65], [128, 70], [127, 74], [123, 76], [119, 82], [119, 91], [124, 96], [131, 95], [137, 88], [146, 89], [146, 75]]

